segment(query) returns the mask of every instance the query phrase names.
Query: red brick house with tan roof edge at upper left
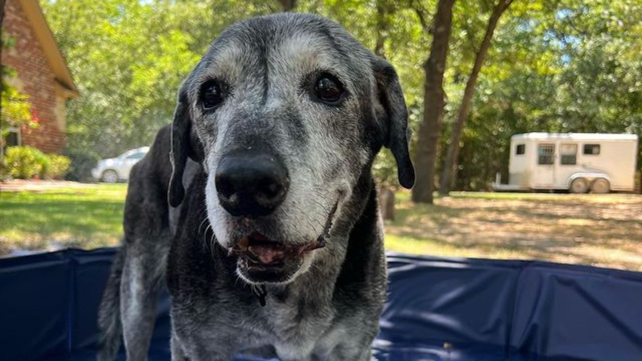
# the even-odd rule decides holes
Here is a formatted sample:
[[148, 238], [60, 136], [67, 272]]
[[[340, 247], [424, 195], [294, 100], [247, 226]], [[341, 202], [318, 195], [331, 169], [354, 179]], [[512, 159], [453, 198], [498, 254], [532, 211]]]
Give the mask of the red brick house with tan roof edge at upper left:
[[17, 72], [8, 82], [30, 96], [31, 112], [40, 123], [35, 129], [10, 129], [7, 145], [61, 152], [66, 145], [65, 103], [78, 90], [38, 1], [6, 0], [2, 31], [15, 40], [13, 48], [2, 49], [3, 66]]

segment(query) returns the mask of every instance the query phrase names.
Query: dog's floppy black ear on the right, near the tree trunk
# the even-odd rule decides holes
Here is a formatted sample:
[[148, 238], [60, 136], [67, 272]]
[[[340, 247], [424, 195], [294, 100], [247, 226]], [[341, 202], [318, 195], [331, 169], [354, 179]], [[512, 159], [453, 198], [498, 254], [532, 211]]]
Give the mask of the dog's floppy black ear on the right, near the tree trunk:
[[397, 161], [399, 184], [410, 189], [415, 184], [415, 168], [408, 151], [411, 131], [408, 128], [408, 110], [399, 78], [394, 67], [379, 57], [374, 60], [373, 71], [377, 81], [377, 98], [385, 110], [382, 128], [386, 134], [383, 145], [392, 151]]

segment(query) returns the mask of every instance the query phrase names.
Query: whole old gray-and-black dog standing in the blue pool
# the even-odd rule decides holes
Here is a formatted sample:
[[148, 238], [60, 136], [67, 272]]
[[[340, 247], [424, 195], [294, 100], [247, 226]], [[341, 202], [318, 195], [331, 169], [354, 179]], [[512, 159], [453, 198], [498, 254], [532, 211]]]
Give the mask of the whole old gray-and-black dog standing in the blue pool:
[[370, 168], [387, 146], [412, 186], [407, 118], [393, 67], [334, 22], [231, 26], [132, 173], [99, 359], [121, 329], [146, 359], [166, 270], [173, 360], [369, 360], [386, 291]]

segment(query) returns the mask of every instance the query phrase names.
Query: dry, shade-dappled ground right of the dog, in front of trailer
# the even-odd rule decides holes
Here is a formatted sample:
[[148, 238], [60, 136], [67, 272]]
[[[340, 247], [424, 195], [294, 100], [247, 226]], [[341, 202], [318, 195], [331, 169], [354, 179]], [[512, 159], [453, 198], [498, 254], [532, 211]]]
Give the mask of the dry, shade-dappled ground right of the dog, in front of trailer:
[[400, 194], [388, 249], [642, 271], [642, 196], [454, 193], [433, 206]]

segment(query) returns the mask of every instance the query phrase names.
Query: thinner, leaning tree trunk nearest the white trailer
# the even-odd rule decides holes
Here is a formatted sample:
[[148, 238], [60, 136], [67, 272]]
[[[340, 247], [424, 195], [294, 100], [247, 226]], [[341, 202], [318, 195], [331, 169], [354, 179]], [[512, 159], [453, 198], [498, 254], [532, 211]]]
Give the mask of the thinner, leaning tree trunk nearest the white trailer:
[[464, 91], [464, 98], [462, 99], [462, 104], [459, 106], [459, 113], [457, 114], [457, 120], [453, 125], [453, 134], [450, 137], [450, 145], [448, 146], [448, 152], [446, 154], [446, 160], [444, 161], [444, 168], [442, 169], [442, 176], [440, 179], [439, 194], [447, 195], [450, 191], [451, 186], [451, 175], [456, 172], [457, 166], [457, 157], [459, 155], [459, 140], [462, 137], [462, 132], [464, 132], [464, 125], [466, 118], [471, 109], [471, 101], [473, 100], [473, 94], [475, 91], [475, 85], [477, 84], [477, 78], [482, 69], [483, 60], [488, 53], [490, 48], [490, 40], [492, 40], [492, 35], [499, 21], [499, 17], [503, 14], [510, 3], [513, 0], [499, 0], [499, 3], [492, 10], [490, 14], [490, 19], [488, 25], [486, 26], [486, 33], [482, 40], [482, 45], [480, 46], [479, 51], [475, 55], [475, 63], [473, 65], [473, 70], [471, 70], [471, 75], [468, 77], [468, 82], [466, 83], [466, 89]]

